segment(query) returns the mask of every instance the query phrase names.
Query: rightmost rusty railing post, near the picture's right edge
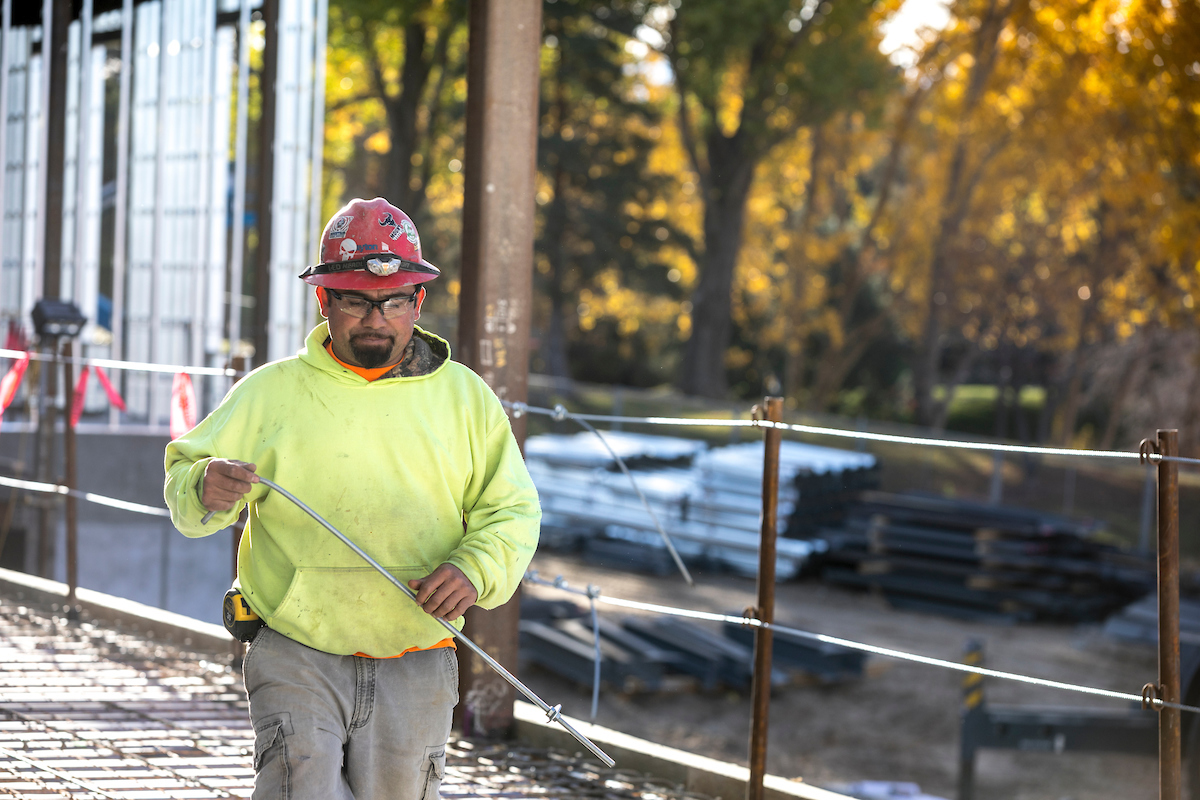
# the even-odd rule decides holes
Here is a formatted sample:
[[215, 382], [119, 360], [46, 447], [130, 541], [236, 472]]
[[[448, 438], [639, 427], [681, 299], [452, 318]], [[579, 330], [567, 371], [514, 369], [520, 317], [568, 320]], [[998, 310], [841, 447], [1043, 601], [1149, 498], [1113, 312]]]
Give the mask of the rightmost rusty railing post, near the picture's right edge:
[[[1180, 467], [1174, 461], [1180, 432], [1158, 432], [1158, 684], [1159, 697], [1180, 703]], [[1180, 710], [1158, 712], [1158, 796], [1178, 800], [1183, 792]]]

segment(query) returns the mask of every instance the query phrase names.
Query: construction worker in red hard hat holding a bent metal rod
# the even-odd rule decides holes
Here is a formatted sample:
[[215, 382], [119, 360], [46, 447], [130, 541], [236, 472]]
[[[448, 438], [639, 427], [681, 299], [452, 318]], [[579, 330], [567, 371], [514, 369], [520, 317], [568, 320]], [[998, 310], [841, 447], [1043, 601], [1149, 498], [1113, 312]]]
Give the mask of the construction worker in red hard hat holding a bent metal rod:
[[[326, 321], [167, 446], [167, 504], [185, 536], [250, 507], [234, 590], [265, 624], [242, 667], [253, 798], [437, 798], [458, 670], [434, 618], [461, 627], [470, 606], [512, 596], [538, 495], [496, 395], [415, 325], [440, 272], [408, 215], [352, 200], [318, 260], [300, 277]], [[420, 607], [259, 474], [407, 581]]]

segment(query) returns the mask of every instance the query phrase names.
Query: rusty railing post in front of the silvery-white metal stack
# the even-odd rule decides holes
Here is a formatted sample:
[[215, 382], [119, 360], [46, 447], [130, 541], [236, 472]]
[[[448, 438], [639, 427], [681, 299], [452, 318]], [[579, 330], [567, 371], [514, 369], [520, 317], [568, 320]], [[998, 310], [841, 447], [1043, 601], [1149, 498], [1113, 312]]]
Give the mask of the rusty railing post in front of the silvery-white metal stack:
[[[784, 398], [767, 397], [758, 410], [758, 419], [784, 421]], [[779, 518], [779, 428], [763, 428], [762, 456], [762, 537], [758, 543], [758, 606], [754, 616], [763, 622], [775, 621], [775, 525]], [[770, 711], [770, 645], [769, 628], [755, 628], [754, 688], [750, 722], [750, 782], [746, 800], [763, 799], [763, 778], [767, 775], [767, 730]]]

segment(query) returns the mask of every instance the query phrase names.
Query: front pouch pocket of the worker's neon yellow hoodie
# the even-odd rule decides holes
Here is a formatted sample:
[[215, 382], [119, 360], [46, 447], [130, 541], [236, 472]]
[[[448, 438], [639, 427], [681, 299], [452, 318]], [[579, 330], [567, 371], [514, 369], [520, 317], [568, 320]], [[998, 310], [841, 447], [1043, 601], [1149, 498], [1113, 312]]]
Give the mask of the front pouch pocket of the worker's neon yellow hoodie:
[[[389, 566], [407, 585], [432, 570]], [[301, 644], [332, 652], [391, 656], [430, 646], [446, 630], [374, 567], [300, 567], [266, 624]]]

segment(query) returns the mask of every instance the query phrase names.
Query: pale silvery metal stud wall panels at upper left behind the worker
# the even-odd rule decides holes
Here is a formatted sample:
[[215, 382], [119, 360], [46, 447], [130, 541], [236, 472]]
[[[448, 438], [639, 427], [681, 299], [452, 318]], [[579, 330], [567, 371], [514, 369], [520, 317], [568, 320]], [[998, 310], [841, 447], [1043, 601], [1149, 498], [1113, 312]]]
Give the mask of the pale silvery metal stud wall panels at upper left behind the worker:
[[[271, 336], [269, 353], [257, 354], [257, 363], [295, 353], [312, 323], [306, 285], [296, 275], [308, 263], [310, 194], [319, 187], [313, 154], [323, 143], [314, 148], [313, 138], [320, 136], [324, 92], [314, 91], [314, 79], [317, 47], [324, 40], [317, 26], [324, 24], [326, 4], [280, 4]], [[76, 20], [70, 28], [61, 285], [62, 296], [78, 302], [92, 320], [80, 339], [84, 355], [187, 366], [223, 366], [228, 359], [227, 303], [230, 294], [240, 300], [240, 291], [230, 293], [227, 285], [230, 206], [239, 188], [230, 163], [230, 152], [236, 151], [232, 101], [238, 29], [216, 23], [218, 12], [240, 5], [241, 0], [151, 0], [133, 6], [128, 192], [115, 213], [126, 236], [124, 257], [114, 245], [114, 279], [121, 285], [113, 291], [112, 336], [95, 321], [101, 305], [104, 142], [114, 137], [104, 131], [106, 82], [118, 78], [106, 68], [107, 47], [83, 46], [84, 37], [91, 38], [90, 22]], [[91, 4], [84, 6], [90, 10]], [[44, 89], [41, 58], [31, 53], [37, 38], [40, 29], [12, 29], [0, 61], [8, 77], [0, 154], [0, 331], [10, 319], [28, 329], [29, 312], [41, 294], [44, 221], [37, 206], [44, 185], [40, 173]], [[317, 120], [314, 98], [320, 107]], [[317, 164], [319, 170], [319, 157]], [[121, 380], [128, 405], [124, 416], [113, 415], [114, 422], [167, 422], [169, 375], [113, 377]], [[198, 387], [205, 404], [223, 393], [220, 383]], [[86, 408], [104, 404], [94, 385]]]

